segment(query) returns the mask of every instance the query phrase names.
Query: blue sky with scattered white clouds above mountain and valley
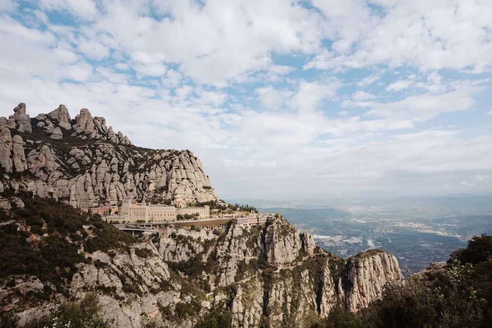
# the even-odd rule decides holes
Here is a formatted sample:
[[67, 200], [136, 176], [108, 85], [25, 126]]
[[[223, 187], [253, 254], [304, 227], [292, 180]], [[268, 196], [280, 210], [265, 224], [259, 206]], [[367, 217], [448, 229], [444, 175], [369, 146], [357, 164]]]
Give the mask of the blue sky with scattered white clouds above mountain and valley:
[[0, 115], [190, 149], [219, 197], [492, 193], [492, 1], [0, 0]]

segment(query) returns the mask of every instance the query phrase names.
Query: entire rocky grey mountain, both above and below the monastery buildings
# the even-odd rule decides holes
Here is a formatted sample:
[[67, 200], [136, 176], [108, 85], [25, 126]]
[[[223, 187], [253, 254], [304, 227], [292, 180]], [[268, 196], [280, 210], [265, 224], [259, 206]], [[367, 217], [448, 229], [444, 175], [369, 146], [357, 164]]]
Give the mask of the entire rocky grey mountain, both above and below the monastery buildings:
[[134, 237], [74, 207], [217, 201], [193, 153], [136, 147], [104, 118], [82, 109], [71, 119], [63, 105], [30, 118], [19, 104], [0, 125], [0, 320], [60, 326], [64, 311], [97, 300], [117, 327], [309, 327], [403, 283], [393, 255], [342, 259], [281, 216]]

